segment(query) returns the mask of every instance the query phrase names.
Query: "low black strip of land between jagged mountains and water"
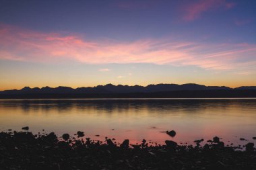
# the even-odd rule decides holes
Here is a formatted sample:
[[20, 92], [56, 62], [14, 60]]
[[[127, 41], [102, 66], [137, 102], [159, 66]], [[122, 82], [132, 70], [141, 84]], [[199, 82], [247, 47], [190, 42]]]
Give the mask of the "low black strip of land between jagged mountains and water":
[[253, 98], [256, 89], [160, 91], [154, 93], [0, 93], [0, 99]]

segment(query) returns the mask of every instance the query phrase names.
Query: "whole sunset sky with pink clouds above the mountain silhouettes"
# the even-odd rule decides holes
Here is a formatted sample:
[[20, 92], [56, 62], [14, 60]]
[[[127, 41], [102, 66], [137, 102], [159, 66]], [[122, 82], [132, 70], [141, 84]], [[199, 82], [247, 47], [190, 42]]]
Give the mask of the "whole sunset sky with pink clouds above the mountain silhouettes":
[[256, 85], [254, 0], [0, 0], [0, 90]]

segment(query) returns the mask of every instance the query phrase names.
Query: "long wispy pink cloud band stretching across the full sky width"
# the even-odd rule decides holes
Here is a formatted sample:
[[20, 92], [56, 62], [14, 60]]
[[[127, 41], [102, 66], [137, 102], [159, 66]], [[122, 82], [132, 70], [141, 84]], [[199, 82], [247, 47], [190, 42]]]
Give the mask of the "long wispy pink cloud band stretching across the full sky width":
[[[202, 44], [175, 40], [84, 40], [0, 25], [0, 58], [27, 62], [74, 60], [88, 64], [153, 63], [231, 70], [255, 68], [256, 44]], [[103, 68], [98, 71], [106, 72]], [[246, 71], [246, 70], [243, 70]]]

